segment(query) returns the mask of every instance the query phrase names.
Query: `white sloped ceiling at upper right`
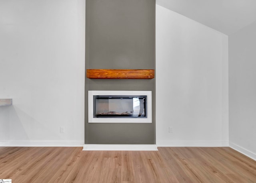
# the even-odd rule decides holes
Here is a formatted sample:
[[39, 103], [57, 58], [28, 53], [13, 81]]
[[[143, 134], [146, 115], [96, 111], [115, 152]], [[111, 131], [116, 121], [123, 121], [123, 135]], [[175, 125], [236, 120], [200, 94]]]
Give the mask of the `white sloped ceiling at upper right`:
[[156, 4], [226, 35], [256, 21], [256, 0], [156, 0]]

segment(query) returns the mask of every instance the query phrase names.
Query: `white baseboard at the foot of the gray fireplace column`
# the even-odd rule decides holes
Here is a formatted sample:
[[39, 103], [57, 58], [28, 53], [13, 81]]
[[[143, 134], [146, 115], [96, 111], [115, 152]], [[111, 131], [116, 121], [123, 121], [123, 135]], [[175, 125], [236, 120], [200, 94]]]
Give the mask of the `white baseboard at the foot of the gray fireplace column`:
[[155, 144], [84, 144], [84, 151], [158, 151]]

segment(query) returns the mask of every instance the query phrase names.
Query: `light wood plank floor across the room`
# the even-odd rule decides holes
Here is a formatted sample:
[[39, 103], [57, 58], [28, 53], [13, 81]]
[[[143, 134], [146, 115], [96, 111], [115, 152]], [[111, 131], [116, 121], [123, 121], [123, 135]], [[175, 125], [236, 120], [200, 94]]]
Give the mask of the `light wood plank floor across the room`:
[[256, 161], [231, 148], [158, 150], [0, 147], [0, 179], [13, 183], [256, 183]]

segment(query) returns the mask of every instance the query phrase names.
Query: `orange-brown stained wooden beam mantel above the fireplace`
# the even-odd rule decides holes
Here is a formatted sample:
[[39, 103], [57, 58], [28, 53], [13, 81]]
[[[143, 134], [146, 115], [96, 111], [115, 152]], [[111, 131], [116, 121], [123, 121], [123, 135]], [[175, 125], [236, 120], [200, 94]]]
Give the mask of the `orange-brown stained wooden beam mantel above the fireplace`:
[[87, 69], [89, 79], [153, 79], [154, 69]]

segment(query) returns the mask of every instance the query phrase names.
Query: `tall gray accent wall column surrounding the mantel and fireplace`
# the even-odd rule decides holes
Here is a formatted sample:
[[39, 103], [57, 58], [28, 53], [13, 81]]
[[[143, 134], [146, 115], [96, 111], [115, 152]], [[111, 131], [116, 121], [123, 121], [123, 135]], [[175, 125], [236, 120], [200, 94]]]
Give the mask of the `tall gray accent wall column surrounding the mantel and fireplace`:
[[[86, 0], [86, 69], [155, 69], [155, 0]], [[88, 123], [88, 91], [152, 91], [152, 123]], [[85, 79], [85, 144], [156, 144], [155, 79]]]

